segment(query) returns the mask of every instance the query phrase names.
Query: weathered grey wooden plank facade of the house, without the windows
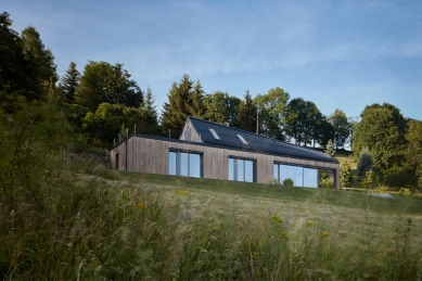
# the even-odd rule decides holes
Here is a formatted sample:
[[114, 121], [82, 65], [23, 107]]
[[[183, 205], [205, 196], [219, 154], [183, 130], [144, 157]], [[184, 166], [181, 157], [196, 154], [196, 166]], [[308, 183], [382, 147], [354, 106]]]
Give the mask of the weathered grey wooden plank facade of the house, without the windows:
[[[168, 175], [169, 151], [180, 150], [202, 154], [203, 178], [229, 179], [229, 157], [253, 158], [256, 163], [256, 182], [267, 183], [273, 178], [273, 163], [284, 163], [316, 169], [327, 169], [334, 175], [334, 186], [340, 189], [340, 165], [323, 161], [314, 161], [266, 153], [248, 152], [231, 148], [203, 143], [201, 136], [188, 126], [181, 139], [175, 140], [153, 136], [135, 135], [110, 151], [114, 169], [148, 174]], [[190, 140], [184, 140], [190, 138]]]

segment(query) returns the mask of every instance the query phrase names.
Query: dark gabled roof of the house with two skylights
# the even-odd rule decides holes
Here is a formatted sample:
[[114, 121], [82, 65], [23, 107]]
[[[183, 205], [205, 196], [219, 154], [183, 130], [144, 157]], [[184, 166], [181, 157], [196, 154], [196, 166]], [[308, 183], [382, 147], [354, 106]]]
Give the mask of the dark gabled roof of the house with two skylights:
[[[336, 158], [320, 151], [297, 146], [233, 127], [227, 127], [220, 124], [197, 119], [195, 117], [188, 117], [188, 119], [190, 120], [192, 127], [201, 136], [204, 143], [217, 144], [244, 151], [261, 152], [278, 156], [338, 163]], [[220, 140], [216, 139], [209, 129], [214, 129]], [[247, 144], [244, 144], [238, 135], [243, 137]]]

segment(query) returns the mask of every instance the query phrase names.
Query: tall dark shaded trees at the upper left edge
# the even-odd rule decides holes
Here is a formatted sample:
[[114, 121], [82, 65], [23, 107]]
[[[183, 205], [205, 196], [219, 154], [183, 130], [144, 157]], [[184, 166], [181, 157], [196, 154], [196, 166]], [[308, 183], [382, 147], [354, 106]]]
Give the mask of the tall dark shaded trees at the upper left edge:
[[44, 100], [54, 82], [55, 65], [50, 50], [46, 50], [34, 27], [24, 30], [23, 37], [11, 28], [9, 14], [0, 14], [0, 100], [2, 110], [20, 110], [22, 97], [28, 101]]

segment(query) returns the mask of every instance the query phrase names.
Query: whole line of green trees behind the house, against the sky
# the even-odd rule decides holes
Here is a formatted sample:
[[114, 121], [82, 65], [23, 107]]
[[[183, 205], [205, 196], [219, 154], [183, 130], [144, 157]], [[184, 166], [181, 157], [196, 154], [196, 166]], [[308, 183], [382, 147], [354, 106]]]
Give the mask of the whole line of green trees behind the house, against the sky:
[[255, 97], [246, 91], [239, 99], [222, 91], [206, 93], [200, 80], [183, 75], [171, 85], [158, 114], [152, 90], [143, 91], [123, 64], [89, 61], [80, 73], [71, 62], [59, 77], [54, 56], [36, 28], [29, 26], [20, 35], [11, 26], [9, 14], [2, 13], [3, 124], [25, 115], [28, 105], [49, 108], [61, 123], [51, 133], [110, 148], [133, 132], [179, 138], [190, 115], [297, 145], [332, 143], [338, 150], [348, 143], [361, 177], [370, 173], [378, 181], [399, 187], [415, 187], [422, 178], [422, 122], [405, 118], [392, 104], [368, 105], [360, 118], [338, 108], [324, 115], [314, 102], [291, 98], [279, 87]]

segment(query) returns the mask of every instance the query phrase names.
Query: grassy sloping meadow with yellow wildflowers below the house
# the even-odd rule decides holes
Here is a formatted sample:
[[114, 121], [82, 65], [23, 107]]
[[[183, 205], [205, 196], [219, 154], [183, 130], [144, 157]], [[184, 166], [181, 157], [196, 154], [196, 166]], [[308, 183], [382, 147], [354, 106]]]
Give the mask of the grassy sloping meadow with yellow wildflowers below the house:
[[59, 161], [1, 204], [3, 280], [420, 280], [422, 201]]

